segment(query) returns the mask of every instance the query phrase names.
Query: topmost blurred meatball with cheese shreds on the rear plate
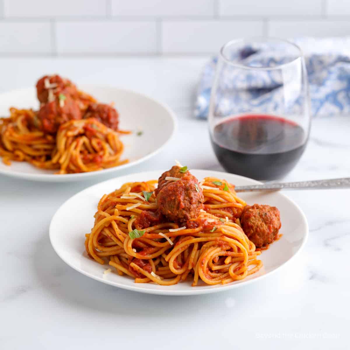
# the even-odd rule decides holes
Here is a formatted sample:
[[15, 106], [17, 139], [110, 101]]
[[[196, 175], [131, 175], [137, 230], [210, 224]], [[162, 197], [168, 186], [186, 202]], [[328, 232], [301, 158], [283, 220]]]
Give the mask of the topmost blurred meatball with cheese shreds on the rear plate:
[[54, 98], [59, 96], [59, 94], [70, 96], [73, 99], [78, 98], [78, 90], [70, 80], [63, 79], [59, 75], [45, 75], [36, 83], [36, 92], [38, 100], [41, 103], [52, 102], [49, 101], [49, 88], [47, 83], [52, 86], [50, 89]]

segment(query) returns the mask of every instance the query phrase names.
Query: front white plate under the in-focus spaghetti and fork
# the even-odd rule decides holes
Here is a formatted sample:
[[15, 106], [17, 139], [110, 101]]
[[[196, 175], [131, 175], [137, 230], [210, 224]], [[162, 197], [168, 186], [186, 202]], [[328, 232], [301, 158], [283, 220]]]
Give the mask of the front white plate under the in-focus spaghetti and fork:
[[[247, 177], [211, 170], [191, 170], [191, 173], [199, 180], [206, 176], [215, 176], [236, 185], [259, 183]], [[242, 281], [228, 283], [227, 285], [208, 286], [201, 281], [201, 284], [196, 287], [191, 287], [190, 279], [173, 286], [159, 286], [155, 283], [135, 283], [131, 277], [119, 276], [114, 272], [105, 275], [103, 278], [103, 272], [110, 266], [100, 265], [90, 259], [84, 246], [85, 233], [89, 233], [93, 226], [93, 215], [97, 210], [99, 199], [105, 193], [112, 192], [125, 182], [158, 179], [160, 174], [162, 174], [162, 171], [117, 177], [91, 186], [66, 201], [57, 210], [50, 224], [50, 241], [59, 257], [80, 273], [119, 288], [149, 294], [195, 295], [238, 288], [271, 275], [295, 257], [306, 243], [309, 231], [308, 223], [301, 209], [292, 200], [279, 192], [241, 193], [241, 197], [248, 204], [274, 205], [281, 212], [282, 228], [280, 232], [283, 236], [271, 244], [268, 250], [262, 251], [259, 259], [264, 263], [264, 267], [258, 273], [250, 275]]]

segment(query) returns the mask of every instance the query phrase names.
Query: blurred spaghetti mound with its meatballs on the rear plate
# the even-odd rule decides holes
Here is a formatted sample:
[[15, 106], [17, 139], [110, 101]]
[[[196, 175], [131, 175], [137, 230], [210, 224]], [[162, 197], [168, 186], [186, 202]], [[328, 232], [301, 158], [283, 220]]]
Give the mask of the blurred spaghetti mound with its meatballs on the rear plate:
[[[42, 83], [40, 83], [42, 81]], [[58, 82], [64, 82], [59, 89]], [[117, 111], [59, 76], [37, 84], [40, 110], [10, 108], [0, 118], [0, 156], [3, 163], [26, 161], [57, 174], [82, 173], [115, 167], [124, 150]], [[71, 93], [71, 94], [69, 94]], [[91, 107], [92, 106], [92, 107]], [[87, 113], [90, 108], [94, 114]]]

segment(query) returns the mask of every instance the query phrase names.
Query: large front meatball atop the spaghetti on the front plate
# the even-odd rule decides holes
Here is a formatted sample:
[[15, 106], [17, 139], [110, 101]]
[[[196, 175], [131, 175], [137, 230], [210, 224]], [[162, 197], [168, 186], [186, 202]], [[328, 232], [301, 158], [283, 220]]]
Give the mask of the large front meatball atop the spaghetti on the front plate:
[[162, 186], [157, 195], [159, 211], [174, 222], [197, 218], [203, 202], [204, 196], [198, 180], [189, 172], [180, 180]]

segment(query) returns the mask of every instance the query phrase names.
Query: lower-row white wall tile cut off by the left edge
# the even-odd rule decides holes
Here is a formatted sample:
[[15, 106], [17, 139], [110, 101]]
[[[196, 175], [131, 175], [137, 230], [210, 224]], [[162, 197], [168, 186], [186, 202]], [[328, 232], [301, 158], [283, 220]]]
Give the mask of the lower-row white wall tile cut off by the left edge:
[[0, 22], [0, 54], [50, 54], [49, 22]]

